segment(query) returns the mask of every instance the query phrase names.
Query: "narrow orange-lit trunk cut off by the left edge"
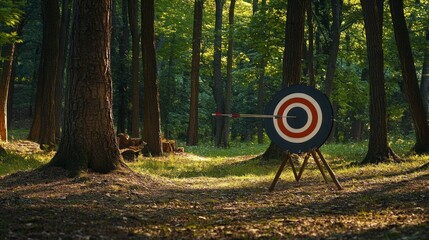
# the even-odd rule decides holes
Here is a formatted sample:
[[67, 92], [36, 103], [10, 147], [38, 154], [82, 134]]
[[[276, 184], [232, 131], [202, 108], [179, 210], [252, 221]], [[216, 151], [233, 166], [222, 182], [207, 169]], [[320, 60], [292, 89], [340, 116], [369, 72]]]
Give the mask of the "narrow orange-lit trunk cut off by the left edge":
[[5, 56], [0, 79], [0, 142], [7, 141], [7, 98], [11, 81], [15, 43], [6, 45], [2, 52]]

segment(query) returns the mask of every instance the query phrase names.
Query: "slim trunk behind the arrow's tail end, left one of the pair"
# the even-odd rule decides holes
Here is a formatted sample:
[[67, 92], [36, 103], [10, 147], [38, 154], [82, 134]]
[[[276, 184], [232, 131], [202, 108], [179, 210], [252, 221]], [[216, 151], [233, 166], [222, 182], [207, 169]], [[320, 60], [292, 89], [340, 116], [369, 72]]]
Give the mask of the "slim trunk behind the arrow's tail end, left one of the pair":
[[[222, 9], [223, 0], [215, 0], [216, 3], [216, 20], [215, 20], [215, 39], [214, 39], [214, 53], [213, 53], [213, 95], [216, 103], [216, 111], [224, 112], [225, 110], [225, 97], [224, 97], [224, 84], [222, 81]], [[224, 120], [220, 117], [215, 120], [215, 146], [227, 147], [223, 141], [222, 135], [224, 134]]]

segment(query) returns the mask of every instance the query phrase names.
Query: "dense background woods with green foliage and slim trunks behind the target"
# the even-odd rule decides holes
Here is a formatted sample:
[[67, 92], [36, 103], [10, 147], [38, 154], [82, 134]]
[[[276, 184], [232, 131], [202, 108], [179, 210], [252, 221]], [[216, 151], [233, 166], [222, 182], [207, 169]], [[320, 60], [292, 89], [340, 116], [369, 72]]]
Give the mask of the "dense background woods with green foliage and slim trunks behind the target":
[[[369, 15], [363, 13], [367, 2], [379, 6], [376, 13], [378, 33], [365, 32], [364, 16]], [[24, 126], [17, 120], [32, 119], [32, 123], [25, 126], [31, 129], [29, 138], [52, 145], [59, 138], [62, 125], [60, 121], [56, 121], [55, 127], [48, 124], [52, 121], [51, 115], [38, 111], [43, 106], [41, 110], [51, 109], [49, 112], [55, 112], [56, 119], [61, 119], [63, 104], [53, 106], [50, 103], [63, 103], [61, 93], [70, 74], [65, 69], [70, 56], [72, 0], [2, 1], [1, 4], [1, 70], [4, 75], [9, 75], [6, 74], [7, 63], [12, 56], [7, 48], [16, 42], [12, 36], [20, 35], [22, 41], [13, 54], [15, 61], [10, 61], [14, 64], [9, 64], [12, 77], [7, 87], [8, 123], [16, 123], [10, 127], [17, 128]], [[142, 29], [147, 28], [142, 26], [139, 6], [140, 1], [135, 0], [114, 0], [112, 5], [114, 121], [117, 132], [129, 132], [134, 136], [141, 134], [145, 109], [153, 106], [143, 103], [148, 93], [141, 77], [146, 71], [141, 64], [144, 56], [138, 49], [138, 42]], [[46, 11], [48, 7], [55, 10]], [[214, 144], [224, 147], [230, 141], [267, 141], [259, 120], [214, 119], [211, 113], [262, 112], [270, 97], [282, 85], [290, 83], [284, 79], [291, 70], [284, 65], [286, 53], [297, 48], [286, 42], [296, 42], [297, 35], [293, 31], [288, 34], [286, 21], [292, 15], [288, 7], [292, 12], [301, 7], [299, 13], [304, 15], [300, 21], [305, 19], [302, 47], [299, 48], [302, 67], [298, 69], [297, 81], [321, 89], [334, 104], [336, 124], [331, 141], [370, 138], [372, 114], [369, 113], [373, 106], [370, 86], [374, 83], [370, 80], [368, 63], [372, 58], [367, 58], [366, 54], [368, 34], [381, 34], [385, 82], [382, 89], [385, 89], [386, 101], [386, 115], [382, 118], [386, 120], [386, 131], [392, 136], [414, 135], [413, 113], [407, 104], [410, 100], [406, 97], [404, 70], [396, 47], [398, 37], [393, 28], [393, 10], [387, 1], [160, 0], [154, 5], [154, 29], [164, 137], [187, 140], [190, 145], [215, 138]], [[369, 5], [367, 9], [372, 8], [374, 6]], [[405, 1], [399, 8], [404, 10], [411, 46], [408, 52], [414, 57], [416, 78], [420, 80], [422, 102], [427, 109], [428, 2]], [[48, 31], [53, 29], [57, 31]], [[44, 40], [50, 34], [57, 36], [58, 46]], [[52, 57], [49, 51], [54, 48], [58, 48], [59, 55]], [[55, 82], [40, 80], [52, 67], [46, 62], [60, 65]], [[41, 67], [43, 64], [45, 67]], [[43, 103], [38, 104], [38, 101]], [[42, 122], [44, 124], [40, 124]], [[47, 129], [42, 130], [42, 127]], [[45, 134], [47, 136], [42, 136]]]

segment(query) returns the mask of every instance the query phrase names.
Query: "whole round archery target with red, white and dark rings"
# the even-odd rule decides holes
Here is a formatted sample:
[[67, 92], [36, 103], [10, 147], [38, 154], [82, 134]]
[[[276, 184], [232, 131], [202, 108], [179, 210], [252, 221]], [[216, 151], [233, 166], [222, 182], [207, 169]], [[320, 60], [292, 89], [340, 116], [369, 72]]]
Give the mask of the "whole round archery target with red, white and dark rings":
[[319, 148], [332, 130], [333, 111], [328, 97], [319, 90], [293, 85], [279, 91], [265, 107], [268, 137], [293, 153]]

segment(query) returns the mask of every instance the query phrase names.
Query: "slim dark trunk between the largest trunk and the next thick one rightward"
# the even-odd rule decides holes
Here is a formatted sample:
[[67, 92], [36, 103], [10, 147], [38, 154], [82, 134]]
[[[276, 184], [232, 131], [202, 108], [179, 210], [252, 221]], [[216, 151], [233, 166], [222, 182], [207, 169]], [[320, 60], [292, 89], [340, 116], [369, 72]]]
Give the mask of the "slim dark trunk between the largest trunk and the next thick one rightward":
[[139, 25], [138, 25], [138, 0], [128, 0], [128, 16], [131, 30], [132, 45], [132, 78], [133, 78], [133, 107], [131, 117], [131, 135], [135, 138], [140, 136], [140, 108], [139, 108]]

